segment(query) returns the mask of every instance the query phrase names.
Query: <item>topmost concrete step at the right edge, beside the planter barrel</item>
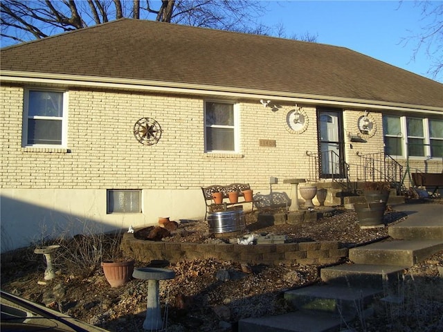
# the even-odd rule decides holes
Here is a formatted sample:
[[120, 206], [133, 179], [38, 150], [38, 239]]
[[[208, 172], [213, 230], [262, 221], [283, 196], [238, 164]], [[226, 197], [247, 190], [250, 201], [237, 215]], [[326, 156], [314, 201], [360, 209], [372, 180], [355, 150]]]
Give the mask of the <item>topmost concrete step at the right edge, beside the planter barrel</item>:
[[388, 234], [394, 239], [404, 240], [443, 240], [443, 211], [442, 220], [427, 219], [426, 215], [417, 222], [415, 219], [406, 219], [397, 225], [388, 228]]

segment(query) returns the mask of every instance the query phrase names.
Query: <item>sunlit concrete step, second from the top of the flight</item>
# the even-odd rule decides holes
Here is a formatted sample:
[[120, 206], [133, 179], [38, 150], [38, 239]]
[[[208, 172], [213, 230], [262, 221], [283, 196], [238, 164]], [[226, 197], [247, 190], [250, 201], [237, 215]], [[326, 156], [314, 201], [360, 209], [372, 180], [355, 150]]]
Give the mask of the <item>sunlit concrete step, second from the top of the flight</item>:
[[443, 240], [383, 241], [349, 250], [355, 264], [413, 266], [443, 250]]

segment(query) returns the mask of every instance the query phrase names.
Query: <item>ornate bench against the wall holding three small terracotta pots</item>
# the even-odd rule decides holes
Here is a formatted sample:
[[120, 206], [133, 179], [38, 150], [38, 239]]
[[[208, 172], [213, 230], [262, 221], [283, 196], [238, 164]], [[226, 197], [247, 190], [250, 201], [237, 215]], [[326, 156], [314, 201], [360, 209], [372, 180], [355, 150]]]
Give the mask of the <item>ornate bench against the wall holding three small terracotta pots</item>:
[[[243, 190], [251, 190], [248, 183], [231, 183], [230, 185], [210, 185], [209, 187], [201, 187], [206, 204], [206, 216], [208, 212], [226, 211], [228, 207], [233, 205], [242, 205], [244, 203], [252, 204], [252, 210], [254, 209], [255, 201], [244, 201]], [[216, 204], [213, 200], [213, 193], [221, 192], [223, 196], [223, 203]], [[238, 192], [239, 201], [237, 203], [230, 203], [226, 201], [228, 199], [228, 192]]]

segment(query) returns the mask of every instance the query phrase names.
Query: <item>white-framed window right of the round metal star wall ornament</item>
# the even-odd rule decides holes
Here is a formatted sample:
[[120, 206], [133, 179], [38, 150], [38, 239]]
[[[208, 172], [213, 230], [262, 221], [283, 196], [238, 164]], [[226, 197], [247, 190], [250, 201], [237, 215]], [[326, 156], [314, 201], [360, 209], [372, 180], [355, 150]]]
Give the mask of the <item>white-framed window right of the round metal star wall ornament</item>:
[[205, 103], [206, 151], [236, 151], [236, 112], [234, 104]]

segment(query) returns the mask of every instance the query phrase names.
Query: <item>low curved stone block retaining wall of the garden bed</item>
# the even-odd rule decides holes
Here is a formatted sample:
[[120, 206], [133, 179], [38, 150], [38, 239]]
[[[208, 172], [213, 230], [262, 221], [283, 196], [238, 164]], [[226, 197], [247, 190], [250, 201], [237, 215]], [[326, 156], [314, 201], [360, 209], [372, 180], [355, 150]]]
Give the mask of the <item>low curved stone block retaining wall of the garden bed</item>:
[[244, 264], [334, 264], [347, 257], [347, 248], [341, 247], [336, 241], [258, 245], [146, 241], [135, 239], [131, 233], [125, 233], [121, 243], [125, 256], [147, 263], [154, 259], [176, 263], [215, 258]]

